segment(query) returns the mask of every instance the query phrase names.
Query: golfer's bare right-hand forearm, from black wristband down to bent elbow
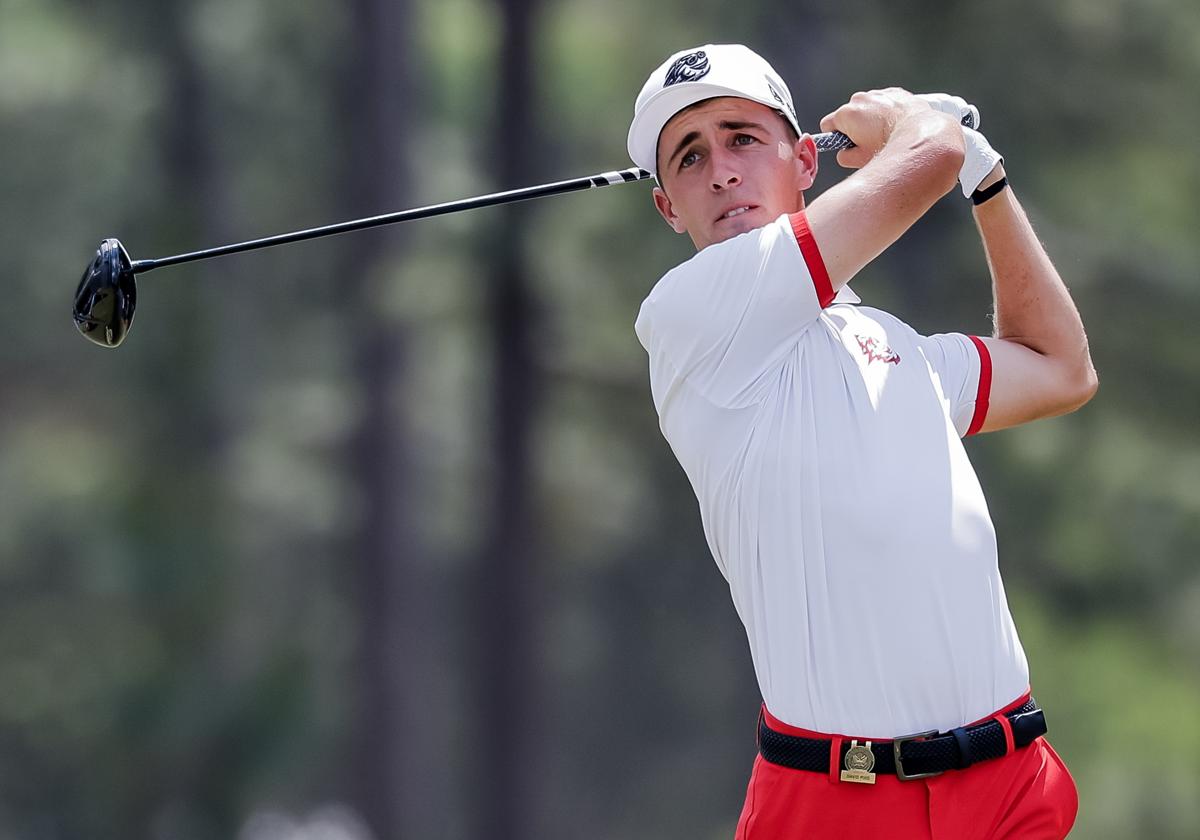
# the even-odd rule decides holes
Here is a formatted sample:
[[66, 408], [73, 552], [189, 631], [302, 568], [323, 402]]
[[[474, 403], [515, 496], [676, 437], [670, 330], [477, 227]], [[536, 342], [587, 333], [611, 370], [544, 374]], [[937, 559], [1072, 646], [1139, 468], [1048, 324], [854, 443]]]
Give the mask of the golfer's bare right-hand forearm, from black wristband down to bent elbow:
[[[997, 166], [980, 188], [1000, 180]], [[1063, 388], [1094, 390], [1096, 371], [1079, 311], [1012, 188], [974, 208], [991, 271], [995, 336], [1051, 362]]]

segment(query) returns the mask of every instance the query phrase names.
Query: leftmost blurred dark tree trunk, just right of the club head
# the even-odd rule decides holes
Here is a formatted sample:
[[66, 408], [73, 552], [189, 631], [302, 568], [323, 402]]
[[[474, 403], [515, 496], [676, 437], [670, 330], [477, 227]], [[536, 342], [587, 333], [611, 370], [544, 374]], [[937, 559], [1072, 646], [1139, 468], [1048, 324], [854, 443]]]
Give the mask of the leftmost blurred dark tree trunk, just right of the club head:
[[[158, 217], [156, 235], [174, 244], [223, 241], [227, 233], [212, 145], [212, 97], [190, 29], [190, 10], [184, 0], [172, 0], [144, 10], [137, 24], [145, 32], [140, 42], [157, 53], [167, 90], [158, 145], [163, 194], [170, 197], [170, 206]], [[158, 458], [155, 473], [169, 475], [146, 487], [146, 516], [157, 523], [149, 563], [162, 565], [161, 574], [169, 581], [154, 593], [148, 612], [170, 617], [160, 626], [180, 654], [162, 674], [163, 696], [172, 704], [191, 686], [214, 679], [211, 647], [221, 635], [228, 602], [216, 593], [228, 586], [226, 558], [232, 541], [221, 486], [230, 432], [222, 360], [229, 348], [222, 348], [218, 335], [229, 324], [196, 317], [210, 312], [214, 287], [222, 278], [211, 264], [191, 271], [197, 282], [185, 282], [167, 296], [166, 319], [172, 328], [150, 362], [151, 377], [164, 384], [158, 389], [158, 409], [169, 418], [164, 424], [169, 439], [144, 442], [146, 451]], [[216, 761], [228, 743], [221, 704], [206, 707], [192, 724], [203, 736], [181, 757], [163, 760], [161, 748], [151, 745], [154, 757], [145, 778], [154, 782], [138, 788], [145, 796], [145, 810], [132, 833], [151, 824], [167, 834], [182, 833], [188, 826], [217, 835], [236, 832], [240, 768]]]

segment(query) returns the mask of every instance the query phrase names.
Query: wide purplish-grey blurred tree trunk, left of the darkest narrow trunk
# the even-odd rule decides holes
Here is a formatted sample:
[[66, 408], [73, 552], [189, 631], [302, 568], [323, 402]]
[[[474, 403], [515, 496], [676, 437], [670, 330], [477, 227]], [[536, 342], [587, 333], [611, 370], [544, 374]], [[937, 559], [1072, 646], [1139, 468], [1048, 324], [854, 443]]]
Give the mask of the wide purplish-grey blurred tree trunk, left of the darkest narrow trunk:
[[[403, 206], [406, 164], [415, 110], [412, 7], [407, 0], [354, 0], [342, 108], [346, 114], [343, 179], [346, 215]], [[424, 622], [419, 535], [409, 514], [410, 446], [397, 395], [403, 394], [407, 341], [403, 325], [382, 304], [386, 260], [404, 239], [401, 229], [356, 234], [344, 244], [340, 283], [354, 343], [354, 376], [362, 415], [350, 470], [362, 511], [352, 563], [360, 616], [352, 798], [378, 838], [430, 836], [439, 816], [437, 791], [422, 787], [422, 766], [434, 756], [425, 703], [416, 706], [421, 674], [432, 665], [419, 644]], [[422, 626], [424, 624], [424, 626]], [[424, 654], [427, 655], [427, 654]], [[438, 754], [438, 757], [442, 754]]]

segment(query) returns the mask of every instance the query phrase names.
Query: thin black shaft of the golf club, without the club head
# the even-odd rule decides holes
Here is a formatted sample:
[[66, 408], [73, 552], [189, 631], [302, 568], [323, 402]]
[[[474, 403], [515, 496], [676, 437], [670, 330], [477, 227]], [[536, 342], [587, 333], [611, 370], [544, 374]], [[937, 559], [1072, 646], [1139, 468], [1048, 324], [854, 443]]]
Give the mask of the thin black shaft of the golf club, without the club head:
[[[823, 134], [814, 134], [812, 139], [817, 144], [820, 151], [835, 151], [838, 149], [845, 149], [850, 143], [850, 138], [840, 132], [826, 132]], [[646, 169], [620, 169], [616, 172], [605, 172], [596, 175], [587, 175], [584, 178], [574, 178], [566, 181], [554, 181], [553, 184], [541, 184], [534, 187], [521, 187], [518, 190], [506, 190], [504, 192], [493, 192], [487, 196], [475, 196], [474, 198], [463, 198], [457, 202], [445, 202], [443, 204], [431, 204], [424, 208], [414, 208], [412, 210], [401, 210], [398, 212], [389, 212], [383, 216], [368, 216], [367, 218], [355, 218], [349, 222], [338, 222], [337, 224], [326, 224], [320, 228], [308, 228], [306, 230], [294, 230], [292, 233], [282, 233], [275, 236], [266, 236], [264, 239], [252, 239], [246, 242], [234, 242], [232, 245], [221, 245], [215, 248], [206, 248], [204, 251], [191, 251], [188, 253], [180, 253], [173, 257], [161, 257], [158, 259], [138, 259], [132, 264], [134, 274], [144, 274], [152, 269], [160, 269], [166, 265], [179, 265], [180, 263], [192, 263], [198, 259], [209, 259], [210, 257], [223, 257], [230, 253], [241, 253], [244, 251], [258, 251], [259, 248], [269, 248], [275, 245], [288, 245], [290, 242], [302, 242], [306, 239], [318, 239], [320, 236], [334, 236], [341, 233], [350, 233], [353, 230], [365, 230], [366, 228], [377, 228], [384, 224], [395, 224], [397, 222], [410, 222], [418, 218], [431, 218], [433, 216], [444, 216], [451, 212], [458, 212], [460, 210], [475, 210], [478, 208], [490, 208], [497, 204], [510, 204], [512, 202], [523, 202], [530, 198], [545, 198], [547, 196], [559, 196], [562, 193], [576, 192], [578, 190], [594, 190], [598, 187], [606, 187], [612, 184], [631, 184], [634, 181], [643, 181], [648, 178], [653, 178], [653, 174]]]

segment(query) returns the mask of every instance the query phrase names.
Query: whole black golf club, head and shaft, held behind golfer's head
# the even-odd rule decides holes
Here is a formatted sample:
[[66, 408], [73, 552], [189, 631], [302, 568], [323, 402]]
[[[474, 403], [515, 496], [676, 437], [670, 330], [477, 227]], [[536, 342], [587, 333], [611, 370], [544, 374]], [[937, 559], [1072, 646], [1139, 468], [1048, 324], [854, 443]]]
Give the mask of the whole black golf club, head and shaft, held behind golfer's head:
[[[812, 136], [818, 151], [838, 151], [848, 149], [854, 144], [850, 138], [838, 131], [824, 132]], [[606, 172], [586, 178], [575, 178], [566, 181], [554, 181], [533, 187], [522, 187], [505, 192], [464, 198], [457, 202], [444, 204], [432, 204], [430, 206], [413, 210], [401, 210], [383, 216], [370, 216], [356, 218], [349, 222], [340, 222], [320, 228], [307, 230], [295, 230], [293, 233], [278, 234], [265, 239], [253, 239], [246, 242], [222, 245], [205, 251], [192, 251], [190, 253], [175, 254], [174, 257], [162, 257], [160, 259], [130, 259], [128, 252], [120, 240], [106, 239], [96, 250], [96, 257], [84, 270], [83, 278], [74, 295], [74, 323], [84, 338], [101, 347], [116, 347], [130, 331], [133, 323], [133, 312], [137, 305], [137, 284], [133, 276], [145, 274], [151, 269], [164, 265], [179, 265], [198, 259], [222, 257], [242, 251], [257, 251], [258, 248], [271, 247], [272, 245], [286, 245], [288, 242], [300, 242], [306, 239], [318, 236], [332, 236], [334, 234], [362, 230], [379, 227], [382, 224], [394, 224], [396, 222], [408, 222], [415, 218], [430, 218], [445, 214], [458, 212], [460, 210], [474, 210], [476, 208], [522, 202], [529, 198], [542, 198], [545, 196], [558, 196], [560, 193], [577, 190], [592, 190], [605, 187], [611, 184], [629, 184], [643, 181], [653, 178], [646, 169], [620, 169]]]

